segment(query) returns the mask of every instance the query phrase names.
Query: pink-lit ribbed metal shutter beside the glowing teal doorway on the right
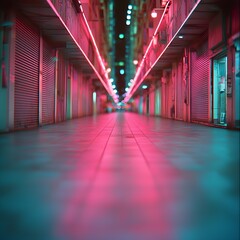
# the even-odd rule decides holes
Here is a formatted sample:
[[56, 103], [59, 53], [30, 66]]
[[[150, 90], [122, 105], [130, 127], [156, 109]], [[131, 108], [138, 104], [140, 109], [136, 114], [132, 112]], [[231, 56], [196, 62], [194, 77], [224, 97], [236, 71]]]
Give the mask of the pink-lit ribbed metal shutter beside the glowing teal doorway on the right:
[[208, 121], [208, 43], [191, 53], [191, 119]]

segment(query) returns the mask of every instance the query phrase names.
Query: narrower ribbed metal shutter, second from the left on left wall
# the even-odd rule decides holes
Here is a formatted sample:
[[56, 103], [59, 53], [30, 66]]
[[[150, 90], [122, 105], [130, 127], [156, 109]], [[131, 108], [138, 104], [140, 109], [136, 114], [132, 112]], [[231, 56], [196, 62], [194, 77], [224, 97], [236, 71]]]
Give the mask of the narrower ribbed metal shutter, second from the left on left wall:
[[55, 51], [43, 41], [42, 123], [54, 123]]

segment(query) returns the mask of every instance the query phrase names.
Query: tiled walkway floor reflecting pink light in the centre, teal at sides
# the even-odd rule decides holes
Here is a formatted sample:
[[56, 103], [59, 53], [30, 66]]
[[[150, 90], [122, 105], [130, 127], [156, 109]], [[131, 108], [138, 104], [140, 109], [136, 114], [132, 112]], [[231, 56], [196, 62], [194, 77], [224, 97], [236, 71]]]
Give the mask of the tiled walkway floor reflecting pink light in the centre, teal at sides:
[[132, 113], [0, 135], [1, 240], [238, 240], [239, 131]]

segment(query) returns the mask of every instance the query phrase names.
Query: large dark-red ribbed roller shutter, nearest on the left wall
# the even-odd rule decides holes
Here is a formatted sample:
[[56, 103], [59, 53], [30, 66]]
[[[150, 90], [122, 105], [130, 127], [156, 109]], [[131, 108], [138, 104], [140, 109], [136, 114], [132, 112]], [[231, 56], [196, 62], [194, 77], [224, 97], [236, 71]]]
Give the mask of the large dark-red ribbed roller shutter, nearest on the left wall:
[[39, 33], [16, 19], [15, 129], [38, 126]]

